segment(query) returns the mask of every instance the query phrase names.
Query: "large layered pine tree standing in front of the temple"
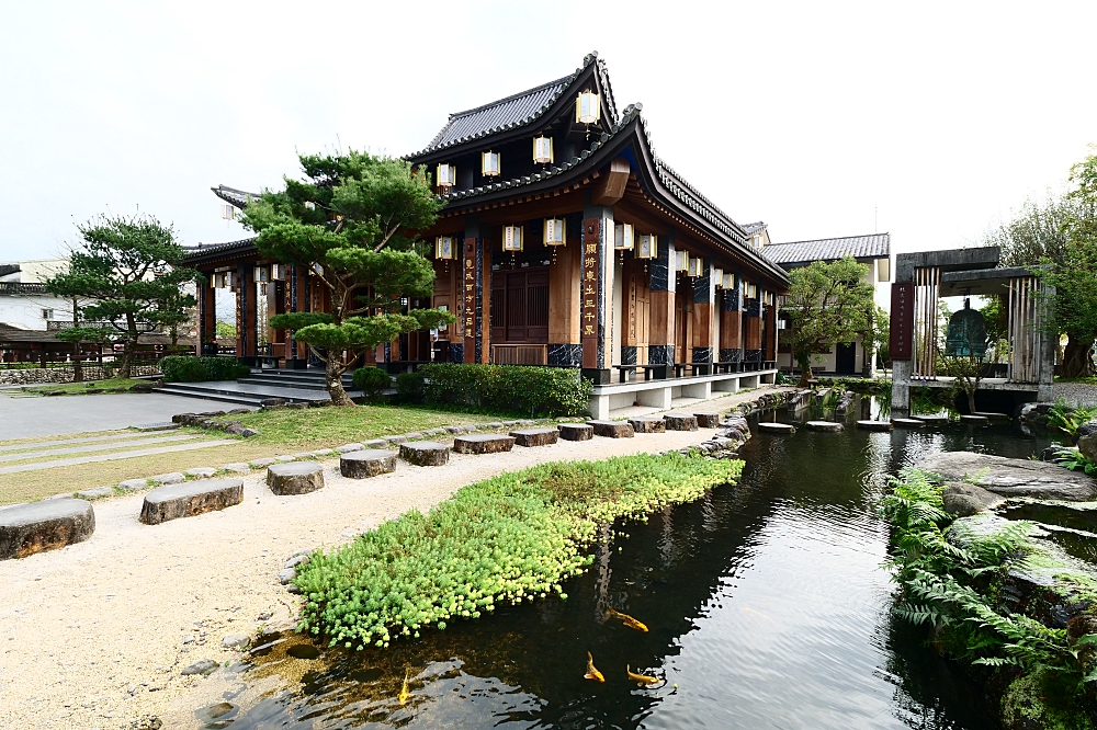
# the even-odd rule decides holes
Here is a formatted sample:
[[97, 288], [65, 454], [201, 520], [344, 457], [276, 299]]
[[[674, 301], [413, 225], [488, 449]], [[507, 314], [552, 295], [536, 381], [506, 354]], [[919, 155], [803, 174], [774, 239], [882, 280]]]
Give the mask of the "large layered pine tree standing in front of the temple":
[[342, 374], [366, 351], [454, 321], [408, 304], [433, 293], [434, 269], [415, 231], [436, 220], [441, 204], [426, 173], [403, 160], [354, 150], [298, 159], [304, 180], [264, 191], [242, 223], [263, 255], [307, 266], [327, 288], [329, 313], [278, 315], [271, 327], [307, 343], [325, 363], [331, 402], [350, 406]]

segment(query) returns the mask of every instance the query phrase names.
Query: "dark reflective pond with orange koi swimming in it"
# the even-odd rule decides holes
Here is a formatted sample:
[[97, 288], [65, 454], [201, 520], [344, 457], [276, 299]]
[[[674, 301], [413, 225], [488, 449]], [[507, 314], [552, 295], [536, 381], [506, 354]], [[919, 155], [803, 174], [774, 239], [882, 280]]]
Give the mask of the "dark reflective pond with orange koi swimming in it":
[[[212, 727], [993, 728], [980, 688], [890, 616], [875, 506], [886, 475], [925, 454], [1027, 458], [1053, 440], [1015, 425], [869, 433], [852, 422], [756, 434], [740, 483], [619, 525], [567, 601], [387, 650], [275, 643], [239, 668], [249, 689], [226, 699], [241, 707]], [[587, 652], [604, 683], [584, 678]], [[626, 666], [660, 682], [641, 687]]]

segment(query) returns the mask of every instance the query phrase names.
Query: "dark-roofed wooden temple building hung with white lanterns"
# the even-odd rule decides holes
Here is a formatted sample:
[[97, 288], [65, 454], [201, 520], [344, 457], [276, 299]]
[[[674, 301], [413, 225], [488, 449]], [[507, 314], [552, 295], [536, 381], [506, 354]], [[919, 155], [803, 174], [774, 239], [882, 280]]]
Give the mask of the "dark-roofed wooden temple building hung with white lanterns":
[[[444, 307], [457, 321], [378, 347], [378, 366], [578, 368], [596, 385], [596, 418], [773, 380], [784, 270], [756, 230], [659, 158], [642, 106], [618, 110], [597, 54], [564, 78], [451, 114], [405, 159], [428, 170], [444, 204], [419, 231], [433, 249], [433, 299], [409, 304]], [[214, 192], [248, 204], [242, 191]], [[211, 282], [200, 297], [203, 342], [216, 288], [229, 288], [237, 356], [308, 366], [292, 332], [264, 327], [279, 312], [325, 309], [307, 269], [263, 259], [250, 240], [196, 247], [188, 263]]]

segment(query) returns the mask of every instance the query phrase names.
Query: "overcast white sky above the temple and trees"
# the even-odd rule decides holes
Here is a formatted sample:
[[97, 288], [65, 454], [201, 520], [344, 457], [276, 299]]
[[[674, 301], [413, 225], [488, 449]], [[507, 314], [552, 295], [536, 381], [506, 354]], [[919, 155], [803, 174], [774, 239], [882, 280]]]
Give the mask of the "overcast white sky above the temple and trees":
[[0, 261], [138, 206], [188, 244], [240, 238], [212, 185], [276, 186], [338, 142], [418, 150], [596, 49], [663, 158], [774, 241], [971, 244], [1097, 141], [1095, 22], [1081, 1], [7, 2]]

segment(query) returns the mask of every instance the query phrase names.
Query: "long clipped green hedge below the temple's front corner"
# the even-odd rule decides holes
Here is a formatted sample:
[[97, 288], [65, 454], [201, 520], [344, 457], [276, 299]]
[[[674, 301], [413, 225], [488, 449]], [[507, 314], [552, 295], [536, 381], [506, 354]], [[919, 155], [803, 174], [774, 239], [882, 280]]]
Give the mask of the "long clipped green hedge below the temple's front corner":
[[530, 415], [581, 415], [593, 385], [569, 368], [439, 363], [396, 378], [408, 402], [463, 403]]

